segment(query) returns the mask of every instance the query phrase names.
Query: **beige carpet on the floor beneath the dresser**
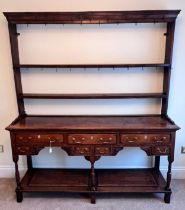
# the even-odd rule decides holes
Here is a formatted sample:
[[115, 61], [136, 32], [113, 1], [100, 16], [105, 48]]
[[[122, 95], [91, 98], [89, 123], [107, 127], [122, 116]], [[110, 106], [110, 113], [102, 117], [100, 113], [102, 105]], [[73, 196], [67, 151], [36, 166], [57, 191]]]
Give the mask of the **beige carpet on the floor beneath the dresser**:
[[13, 179], [0, 179], [0, 210], [184, 210], [185, 180], [173, 180], [170, 204], [162, 194], [103, 194], [96, 204], [86, 195], [66, 193], [24, 193], [22, 203], [15, 200]]

